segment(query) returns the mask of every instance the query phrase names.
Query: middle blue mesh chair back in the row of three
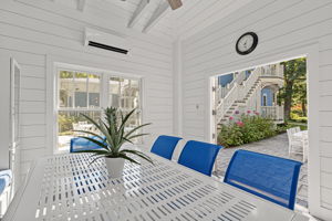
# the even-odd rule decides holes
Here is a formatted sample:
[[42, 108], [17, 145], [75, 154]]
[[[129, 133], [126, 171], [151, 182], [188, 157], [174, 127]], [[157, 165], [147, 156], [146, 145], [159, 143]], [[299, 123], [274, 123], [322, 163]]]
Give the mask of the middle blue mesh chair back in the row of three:
[[179, 156], [178, 164], [211, 176], [217, 154], [221, 148], [218, 145], [189, 140]]

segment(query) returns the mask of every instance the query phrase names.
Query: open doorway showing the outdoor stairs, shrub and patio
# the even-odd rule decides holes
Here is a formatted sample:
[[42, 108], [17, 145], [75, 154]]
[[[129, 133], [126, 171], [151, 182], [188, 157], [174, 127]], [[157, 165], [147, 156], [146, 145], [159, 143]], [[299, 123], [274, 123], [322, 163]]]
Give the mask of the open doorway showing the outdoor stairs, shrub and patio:
[[297, 203], [308, 208], [307, 57], [260, 65], [211, 77], [212, 140], [226, 147], [218, 177], [237, 149], [303, 162]]

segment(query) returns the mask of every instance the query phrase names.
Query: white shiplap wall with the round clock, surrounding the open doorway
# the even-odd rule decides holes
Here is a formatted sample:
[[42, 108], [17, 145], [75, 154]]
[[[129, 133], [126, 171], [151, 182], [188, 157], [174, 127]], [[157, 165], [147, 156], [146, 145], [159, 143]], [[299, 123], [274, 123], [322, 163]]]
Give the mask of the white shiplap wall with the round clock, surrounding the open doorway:
[[[208, 12], [207, 12], [208, 13]], [[218, 12], [216, 12], [218, 13]], [[259, 45], [247, 56], [236, 54], [237, 39], [247, 31], [259, 35]], [[332, 1], [331, 0], [256, 0], [204, 31], [185, 40], [183, 50], [183, 131], [185, 138], [209, 140], [208, 78], [220, 71], [245, 69], [255, 61], [310, 43], [318, 44], [319, 127], [315, 138], [320, 157], [318, 201], [313, 213], [332, 219]], [[301, 55], [301, 54], [299, 54]], [[273, 61], [269, 61], [273, 62]], [[235, 69], [235, 70], [230, 70]], [[309, 83], [310, 84], [310, 83]], [[318, 92], [319, 91], [319, 92]], [[319, 140], [318, 140], [319, 139]], [[315, 176], [315, 175], [313, 175]], [[312, 176], [312, 177], [313, 177]], [[309, 183], [310, 185], [310, 183]], [[314, 186], [312, 186], [314, 187]], [[314, 203], [312, 203], [314, 202]]]

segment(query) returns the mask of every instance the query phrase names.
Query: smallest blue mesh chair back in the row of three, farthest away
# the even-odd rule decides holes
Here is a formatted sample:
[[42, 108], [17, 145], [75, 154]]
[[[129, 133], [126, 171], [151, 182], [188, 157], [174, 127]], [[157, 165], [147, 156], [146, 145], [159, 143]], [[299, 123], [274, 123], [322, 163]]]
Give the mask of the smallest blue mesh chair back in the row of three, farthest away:
[[175, 147], [180, 139], [183, 138], [162, 135], [156, 139], [153, 147], [151, 148], [151, 151], [170, 160]]

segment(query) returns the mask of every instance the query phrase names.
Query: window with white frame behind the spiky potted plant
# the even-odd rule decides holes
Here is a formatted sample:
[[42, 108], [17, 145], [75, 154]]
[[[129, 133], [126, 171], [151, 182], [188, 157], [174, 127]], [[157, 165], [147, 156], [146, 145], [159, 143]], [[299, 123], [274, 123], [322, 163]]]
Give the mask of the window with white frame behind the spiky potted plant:
[[60, 151], [68, 151], [70, 140], [82, 135], [75, 130], [95, 130], [82, 114], [97, 119], [103, 108], [107, 106], [117, 107], [124, 114], [136, 108], [126, 129], [141, 124], [139, 78], [59, 69], [56, 91], [58, 150]]

